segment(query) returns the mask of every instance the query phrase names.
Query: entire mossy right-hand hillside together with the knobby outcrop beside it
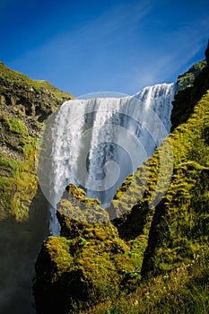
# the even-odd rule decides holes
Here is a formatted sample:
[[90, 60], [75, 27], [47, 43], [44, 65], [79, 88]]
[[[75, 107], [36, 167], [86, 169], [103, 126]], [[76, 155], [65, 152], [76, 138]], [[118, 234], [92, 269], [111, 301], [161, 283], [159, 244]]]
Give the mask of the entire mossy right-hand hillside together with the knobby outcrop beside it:
[[[46, 307], [52, 313], [58, 309], [59, 313], [82, 309], [83, 313], [183, 312], [182, 304], [187, 304], [189, 312], [205, 309], [208, 66], [196, 75], [192, 86], [176, 96], [172, 122], [173, 133], [118, 189], [107, 209], [109, 217], [98, 204], [85, 202], [83, 208], [81, 191], [75, 199], [63, 196], [57, 210], [61, 236], [43, 243], [36, 263], [34, 295], [38, 313], [44, 313]], [[163, 163], [162, 156], [172, 164]], [[161, 201], [155, 205], [159, 196]], [[74, 220], [77, 211], [81, 211], [80, 219]], [[100, 217], [103, 211], [104, 222], [86, 222], [91, 211], [98, 211]], [[135, 289], [130, 297], [128, 293]], [[196, 299], [202, 298], [202, 305], [193, 293]], [[94, 307], [98, 302], [100, 305]]]

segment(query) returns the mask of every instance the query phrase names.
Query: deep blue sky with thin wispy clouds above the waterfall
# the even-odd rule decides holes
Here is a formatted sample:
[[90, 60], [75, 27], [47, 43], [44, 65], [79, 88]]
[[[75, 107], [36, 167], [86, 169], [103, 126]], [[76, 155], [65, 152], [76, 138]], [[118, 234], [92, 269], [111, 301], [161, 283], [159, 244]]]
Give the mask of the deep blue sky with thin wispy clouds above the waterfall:
[[171, 83], [203, 59], [209, 1], [1, 0], [0, 59], [80, 96]]

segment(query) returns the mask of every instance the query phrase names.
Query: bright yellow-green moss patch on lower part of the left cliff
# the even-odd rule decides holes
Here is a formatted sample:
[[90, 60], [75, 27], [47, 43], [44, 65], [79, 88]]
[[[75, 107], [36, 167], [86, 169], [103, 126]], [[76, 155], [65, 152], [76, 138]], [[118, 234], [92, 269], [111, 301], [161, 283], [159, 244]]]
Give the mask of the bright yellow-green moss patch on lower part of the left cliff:
[[28, 218], [31, 200], [38, 188], [35, 171], [36, 139], [28, 133], [22, 121], [4, 116], [4, 125], [8, 126], [18, 138], [23, 160], [14, 161], [12, 157], [0, 157], [1, 180], [1, 219], [13, 215], [17, 221]]

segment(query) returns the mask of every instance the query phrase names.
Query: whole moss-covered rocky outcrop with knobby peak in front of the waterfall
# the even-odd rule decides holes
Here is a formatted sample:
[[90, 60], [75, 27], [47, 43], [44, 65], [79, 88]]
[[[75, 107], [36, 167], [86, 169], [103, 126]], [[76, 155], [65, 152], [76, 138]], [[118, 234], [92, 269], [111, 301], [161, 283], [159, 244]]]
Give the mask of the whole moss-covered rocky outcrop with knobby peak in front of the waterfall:
[[39, 253], [33, 287], [37, 313], [67, 314], [86, 308], [86, 301], [97, 303], [135, 288], [139, 274], [129, 247], [106, 211], [93, 200], [81, 203], [80, 196], [77, 189], [76, 198], [63, 196], [57, 209], [61, 236], [49, 237]]

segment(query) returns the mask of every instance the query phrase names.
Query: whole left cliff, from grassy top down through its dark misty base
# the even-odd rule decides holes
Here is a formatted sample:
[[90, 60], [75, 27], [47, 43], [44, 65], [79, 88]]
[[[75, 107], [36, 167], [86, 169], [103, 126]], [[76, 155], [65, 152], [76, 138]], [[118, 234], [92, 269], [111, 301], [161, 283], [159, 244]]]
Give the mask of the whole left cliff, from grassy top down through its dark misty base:
[[38, 187], [36, 148], [42, 121], [72, 96], [0, 63], [0, 311], [32, 312], [30, 286], [48, 232], [47, 202]]

